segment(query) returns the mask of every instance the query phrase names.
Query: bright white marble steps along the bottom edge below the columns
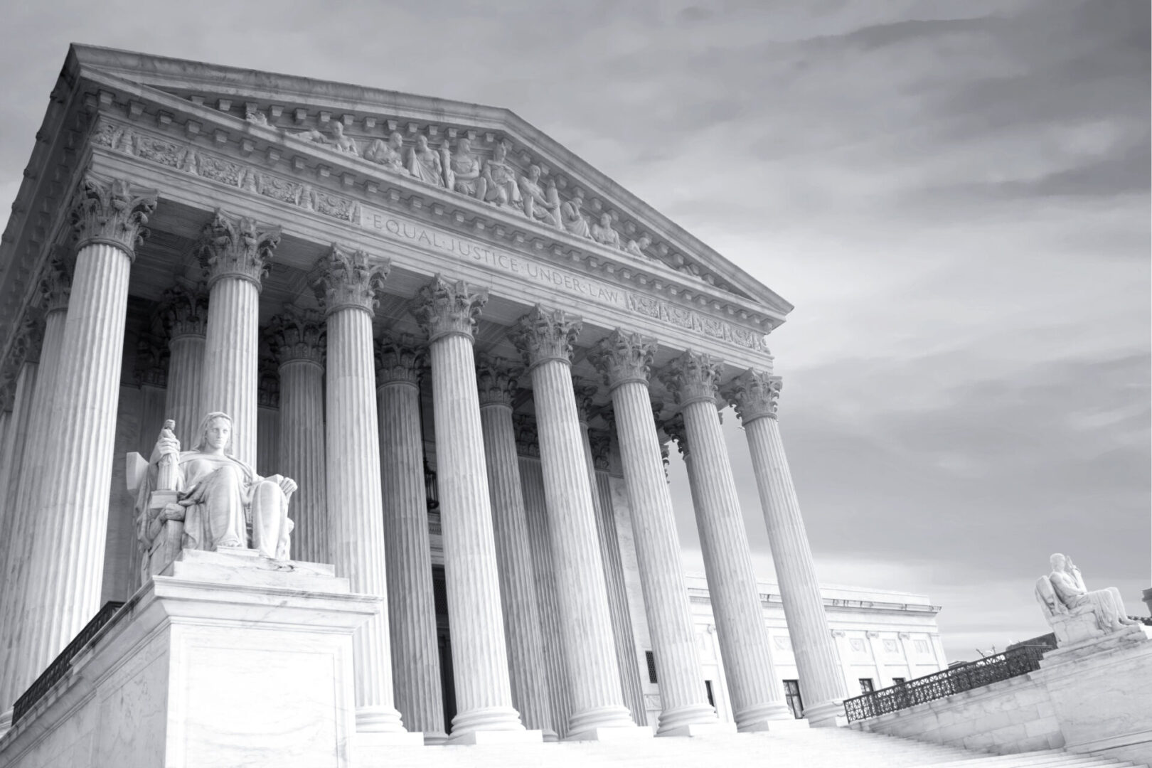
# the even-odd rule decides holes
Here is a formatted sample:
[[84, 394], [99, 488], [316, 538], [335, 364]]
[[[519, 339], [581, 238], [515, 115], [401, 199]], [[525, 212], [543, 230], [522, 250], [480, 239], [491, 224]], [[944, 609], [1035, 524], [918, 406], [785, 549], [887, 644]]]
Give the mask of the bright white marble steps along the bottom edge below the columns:
[[[392, 747], [358, 755], [362, 768], [665, 768], [743, 766], [773, 768], [1089, 768], [1137, 763], [1046, 750], [994, 755], [842, 728], [789, 729], [695, 738], [652, 738], [626, 743], [562, 743]], [[1144, 766], [1147, 768], [1147, 766]]]

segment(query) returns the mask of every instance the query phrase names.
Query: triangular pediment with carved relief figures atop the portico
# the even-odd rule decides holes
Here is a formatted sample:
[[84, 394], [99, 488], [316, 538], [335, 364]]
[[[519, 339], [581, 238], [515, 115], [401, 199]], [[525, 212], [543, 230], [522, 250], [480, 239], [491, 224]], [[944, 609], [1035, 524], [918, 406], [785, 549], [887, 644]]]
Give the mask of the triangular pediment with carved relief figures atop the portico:
[[333, 165], [374, 172], [385, 182], [471, 198], [593, 250], [619, 252], [626, 263], [635, 257], [641, 267], [673, 271], [705, 294], [761, 307], [771, 326], [793, 309], [505, 108], [81, 45], [73, 46], [69, 68], [96, 86], [128, 89], [139, 108], [150, 101], [241, 121], [244, 131], [282, 144], [285, 152], [328, 155]]

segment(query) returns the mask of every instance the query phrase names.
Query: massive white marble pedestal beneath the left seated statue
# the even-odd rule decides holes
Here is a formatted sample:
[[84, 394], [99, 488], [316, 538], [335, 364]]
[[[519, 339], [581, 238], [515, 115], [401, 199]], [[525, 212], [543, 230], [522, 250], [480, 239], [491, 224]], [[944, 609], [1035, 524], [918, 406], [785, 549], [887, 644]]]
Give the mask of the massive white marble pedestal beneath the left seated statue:
[[346, 767], [353, 631], [331, 565], [182, 552], [0, 739], [0, 767]]

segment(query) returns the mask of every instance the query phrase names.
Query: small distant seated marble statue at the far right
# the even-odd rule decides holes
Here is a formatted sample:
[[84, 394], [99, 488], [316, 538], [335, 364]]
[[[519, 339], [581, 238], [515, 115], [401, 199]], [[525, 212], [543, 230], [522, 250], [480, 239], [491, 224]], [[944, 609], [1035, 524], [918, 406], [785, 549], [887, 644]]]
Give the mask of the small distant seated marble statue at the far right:
[[1089, 591], [1070, 557], [1056, 553], [1048, 561], [1052, 572], [1037, 581], [1037, 599], [1060, 645], [1101, 637], [1138, 624], [1128, 618], [1120, 590]]

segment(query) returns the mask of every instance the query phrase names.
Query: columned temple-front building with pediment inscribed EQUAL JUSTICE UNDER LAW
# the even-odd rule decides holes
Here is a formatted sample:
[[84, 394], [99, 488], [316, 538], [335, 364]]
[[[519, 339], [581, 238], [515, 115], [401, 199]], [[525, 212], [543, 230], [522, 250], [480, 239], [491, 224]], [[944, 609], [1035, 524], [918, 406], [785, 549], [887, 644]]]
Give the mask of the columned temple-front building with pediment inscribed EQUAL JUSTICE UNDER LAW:
[[0, 269], [5, 727], [101, 604], [152, 578], [132, 462], [167, 420], [197, 444], [209, 412], [232, 417], [236, 459], [298, 486], [291, 560], [386, 598], [353, 637], [357, 732], [722, 728], [669, 438], [730, 720], [791, 721], [728, 404], [803, 714], [833, 724], [857, 692], [776, 420], [765, 336], [791, 305], [506, 109], [74, 46]]

